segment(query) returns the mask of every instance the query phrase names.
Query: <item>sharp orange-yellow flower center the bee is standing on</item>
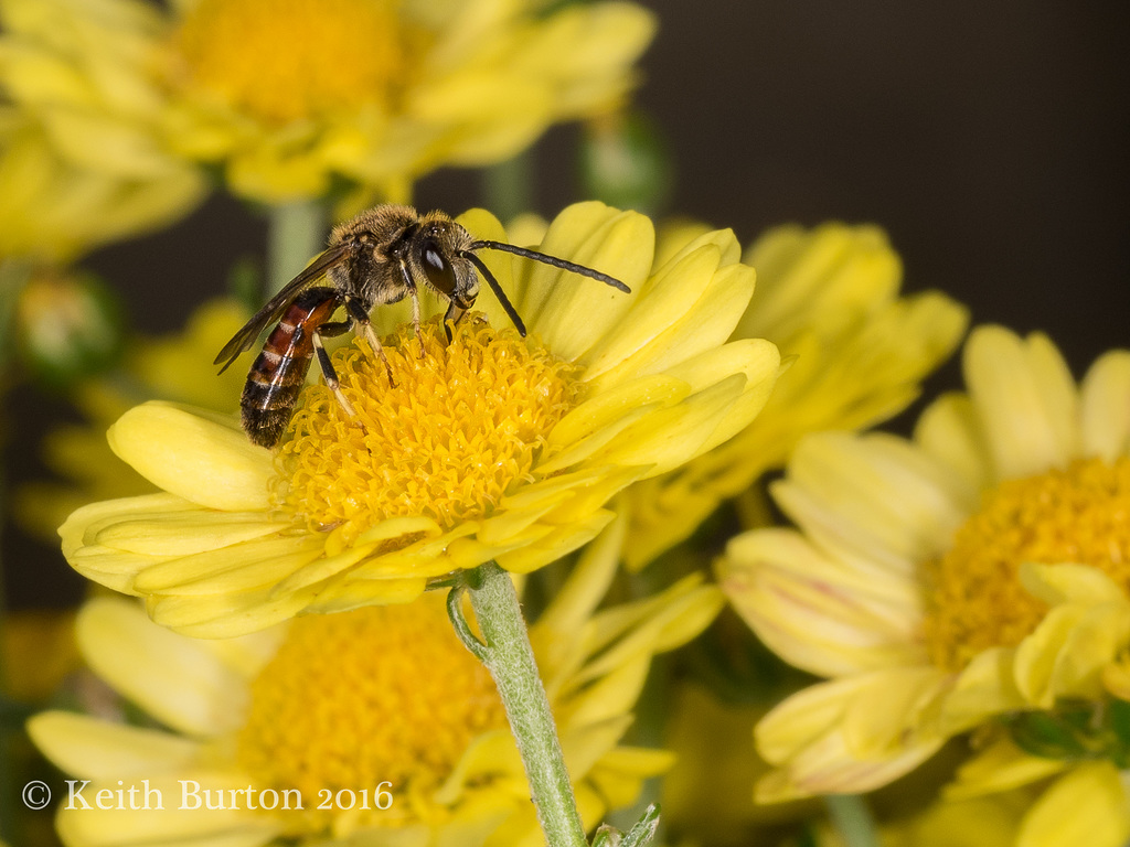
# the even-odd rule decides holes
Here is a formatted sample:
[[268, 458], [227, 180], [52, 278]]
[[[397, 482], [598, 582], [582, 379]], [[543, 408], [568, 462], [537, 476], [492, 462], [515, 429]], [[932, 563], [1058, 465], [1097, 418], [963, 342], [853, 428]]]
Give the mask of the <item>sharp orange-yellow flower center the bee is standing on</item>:
[[[420, 343], [424, 353], [420, 355]], [[394, 385], [367, 346], [333, 355], [347, 414], [308, 386], [279, 451], [275, 498], [312, 529], [356, 538], [390, 517], [441, 527], [490, 514], [530, 479], [546, 437], [575, 403], [576, 368], [514, 330], [468, 318], [447, 344], [438, 320], [385, 340]]]

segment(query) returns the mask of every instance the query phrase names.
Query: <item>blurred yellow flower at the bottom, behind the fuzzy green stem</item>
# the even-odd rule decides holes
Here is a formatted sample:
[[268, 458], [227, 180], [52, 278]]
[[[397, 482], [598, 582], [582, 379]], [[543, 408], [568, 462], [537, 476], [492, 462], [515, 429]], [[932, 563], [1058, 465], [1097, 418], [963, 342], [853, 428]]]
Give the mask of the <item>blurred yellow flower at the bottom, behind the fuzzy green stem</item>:
[[[594, 611], [623, 536], [617, 522], [586, 550], [530, 629], [590, 828], [670, 766], [669, 753], [619, 740], [652, 656], [696, 636], [722, 604], [721, 592], [690, 577]], [[33, 740], [92, 780], [85, 797], [137, 786], [140, 805], [148, 786], [165, 809], [64, 810], [68, 847], [542, 842], [494, 683], [457, 638], [440, 593], [228, 640], [169, 632], [106, 599], [84, 608], [78, 637], [94, 671], [168, 731], [54, 711], [32, 719]], [[199, 807], [183, 807], [197, 798]]]

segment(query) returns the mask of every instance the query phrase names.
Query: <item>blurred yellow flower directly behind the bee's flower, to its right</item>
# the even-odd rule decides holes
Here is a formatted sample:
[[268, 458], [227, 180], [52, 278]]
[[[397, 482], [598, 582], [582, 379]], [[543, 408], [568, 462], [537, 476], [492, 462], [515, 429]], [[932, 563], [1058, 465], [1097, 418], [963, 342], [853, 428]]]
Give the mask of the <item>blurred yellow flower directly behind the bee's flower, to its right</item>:
[[[698, 232], [673, 228], [659, 252]], [[757, 291], [731, 338], [766, 338], [790, 365], [765, 410], [738, 436], [632, 488], [627, 561], [634, 568], [780, 468], [803, 435], [862, 429], [905, 409], [965, 331], [965, 309], [945, 295], [899, 296], [902, 263], [873, 226], [777, 227], [744, 261], [757, 270]]]

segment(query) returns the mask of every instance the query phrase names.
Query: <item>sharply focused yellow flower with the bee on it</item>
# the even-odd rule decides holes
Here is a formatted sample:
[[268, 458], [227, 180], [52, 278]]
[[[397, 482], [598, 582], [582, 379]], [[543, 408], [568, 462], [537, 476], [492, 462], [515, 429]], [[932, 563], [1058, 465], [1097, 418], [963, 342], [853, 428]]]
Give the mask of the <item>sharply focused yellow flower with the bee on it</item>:
[[[505, 239], [486, 212], [462, 222]], [[728, 232], [653, 267], [651, 221], [566, 209], [540, 250], [599, 268], [632, 295], [510, 254], [487, 257], [530, 338], [489, 295], [445, 347], [435, 320], [388, 339], [393, 384], [367, 346], [334, 353], [342, 411], [307, 387], [278, 455], [234, 421], [168, 404], [124, 414], [115, 453], [167, 494], [76, 512], [63, 552], [95, 582], [144, 595], [190, 635], [259, 629], [299, 612], [418, 596], [496, 559], [525, 573], [590, 541], [631, 482], [747, 426], [776, 348], [724, 343], [753, 292]], [[408, 305], [379, 309], [403, 321]], [[501, 329], [494, 329], [501, 328]]]

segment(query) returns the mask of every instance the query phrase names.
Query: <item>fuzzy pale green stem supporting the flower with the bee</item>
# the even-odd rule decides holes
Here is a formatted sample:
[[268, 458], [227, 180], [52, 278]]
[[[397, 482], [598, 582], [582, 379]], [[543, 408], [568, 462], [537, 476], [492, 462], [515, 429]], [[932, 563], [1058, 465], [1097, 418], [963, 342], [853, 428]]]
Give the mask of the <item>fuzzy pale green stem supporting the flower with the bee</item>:
[[[584, 847], [588, 844], [584, 828], [514, 584], [493, 561], [469, 573], [466, 584], [470, 588], [479, 631], [486, 640], [485, 645], [479, 643], [478, 648], [471, 647], [471, 650], [483, 660], [498, 688], [546, 844], [549, 847]], [[449, 609], [455, 608], [458, 602], [449, 604]], [[469, 631], [464, 630], [461, 636], [464, 640], [466, 635]]]

